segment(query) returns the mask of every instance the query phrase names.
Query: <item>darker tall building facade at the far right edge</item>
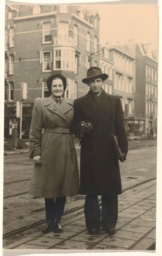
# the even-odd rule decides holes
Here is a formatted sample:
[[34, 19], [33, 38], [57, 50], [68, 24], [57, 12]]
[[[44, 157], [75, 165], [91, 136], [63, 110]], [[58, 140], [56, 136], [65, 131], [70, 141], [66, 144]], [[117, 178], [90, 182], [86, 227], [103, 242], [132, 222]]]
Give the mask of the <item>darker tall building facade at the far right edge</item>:
[[134, 115], [139, 135], [157, 134], [158, 59], [150, 44], [135, 44], [136, 91]]

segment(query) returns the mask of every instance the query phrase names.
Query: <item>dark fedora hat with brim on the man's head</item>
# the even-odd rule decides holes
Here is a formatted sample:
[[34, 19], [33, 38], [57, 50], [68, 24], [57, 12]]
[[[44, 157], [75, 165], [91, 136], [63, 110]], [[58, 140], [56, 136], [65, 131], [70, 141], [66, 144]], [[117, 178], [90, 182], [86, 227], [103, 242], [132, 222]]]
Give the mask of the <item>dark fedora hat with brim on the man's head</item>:
[[101, 68], [91, 67], [87, 70], [87, 77], [82, 80], [83, 83], [88, 84], [90, 79], [92, 78], [102, 78], [106, 80], [109, 76], [107, 74], [102, 73]]

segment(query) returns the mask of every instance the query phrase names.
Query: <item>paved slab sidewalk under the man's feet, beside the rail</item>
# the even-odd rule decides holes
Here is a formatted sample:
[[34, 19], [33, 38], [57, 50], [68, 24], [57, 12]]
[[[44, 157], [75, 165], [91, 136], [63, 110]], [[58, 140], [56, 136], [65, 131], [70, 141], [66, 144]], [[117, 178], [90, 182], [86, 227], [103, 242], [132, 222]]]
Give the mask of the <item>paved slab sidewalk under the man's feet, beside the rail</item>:
[[63, 215], [61, 234], [43, 235], [40, 230], [39, 237], [26, 238], [10, 245], [10, 249], [155, 250], [156, 180], [125, 191], [118, 200], [118, 222], [113, 236], [102, 229], [99, 235], [88, 234], [82, 210], [72, 216], [67, 214], [68, 218]]

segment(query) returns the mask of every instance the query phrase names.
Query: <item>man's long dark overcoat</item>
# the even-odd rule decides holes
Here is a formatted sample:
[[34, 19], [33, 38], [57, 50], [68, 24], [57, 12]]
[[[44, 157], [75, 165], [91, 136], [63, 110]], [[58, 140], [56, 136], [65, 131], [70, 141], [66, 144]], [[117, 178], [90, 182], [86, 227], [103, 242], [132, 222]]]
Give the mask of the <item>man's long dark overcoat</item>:
[[74, 101], [71, 132], [80, 137], [80, 122], [93, 125], [91, 134], [81, 140], [80, 194], [94, 191], [98, 195], [122, 194], [119, 163], [111, 135], [117, 135], [122, 152], [127, 153], [127, 135], [119, 97], [103, 91], [100, 105], [91, 92]]

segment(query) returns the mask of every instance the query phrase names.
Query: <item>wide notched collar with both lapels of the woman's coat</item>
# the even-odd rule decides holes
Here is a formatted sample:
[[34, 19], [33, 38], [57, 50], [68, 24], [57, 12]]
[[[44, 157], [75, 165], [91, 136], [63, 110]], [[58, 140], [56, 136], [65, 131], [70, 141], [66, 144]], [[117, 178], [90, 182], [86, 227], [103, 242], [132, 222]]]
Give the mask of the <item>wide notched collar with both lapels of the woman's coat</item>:
[[48, 110], [52, 111], [53, 113], [61, 116], [63, 119], [66, 120], [66, 117], [64, 116], [65, 113], [67, 113], [70, 109], [72, 109], [73, 103], [71, 100], [67, 98], [63, 98], [61, 105], [59, 106], [52, 96], [46, 99], [45, 107], [47, 107]]

